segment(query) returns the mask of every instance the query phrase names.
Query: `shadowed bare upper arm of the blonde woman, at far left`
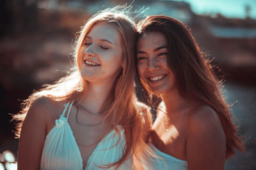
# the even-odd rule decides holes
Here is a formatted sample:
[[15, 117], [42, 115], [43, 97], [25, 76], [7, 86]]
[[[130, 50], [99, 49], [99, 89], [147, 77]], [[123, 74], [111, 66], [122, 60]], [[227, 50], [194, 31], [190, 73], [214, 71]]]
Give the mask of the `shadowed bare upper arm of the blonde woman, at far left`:
[[22, 124], [18, 150], [19, 169], [40, 169], [40, 159], [47, 129], [49, 99], [40, 98], [32, 103]]

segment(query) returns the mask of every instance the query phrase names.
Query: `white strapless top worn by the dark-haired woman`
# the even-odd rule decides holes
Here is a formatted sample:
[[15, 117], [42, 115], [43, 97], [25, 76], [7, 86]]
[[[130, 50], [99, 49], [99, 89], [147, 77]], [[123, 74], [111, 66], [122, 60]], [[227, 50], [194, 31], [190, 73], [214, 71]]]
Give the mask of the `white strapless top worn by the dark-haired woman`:
[[167, 153], [161, 152], [154, 146], [152, 143], [148, 143], [148, 147], [152, 149], [152, 151], [162, 159], [159, 158], [150, 158], [145, 160], [145, 164], [143, 164], [145, 170], [187, 170], [188, 162], [186, 160], [177, 159], [168, 155]]

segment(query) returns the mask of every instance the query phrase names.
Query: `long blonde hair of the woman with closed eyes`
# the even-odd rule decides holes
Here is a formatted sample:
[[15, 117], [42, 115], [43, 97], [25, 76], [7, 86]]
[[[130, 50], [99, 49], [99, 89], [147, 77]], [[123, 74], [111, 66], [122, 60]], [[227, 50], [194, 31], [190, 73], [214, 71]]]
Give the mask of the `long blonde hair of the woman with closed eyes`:
[[[77, 101], [81, 98], [82, 94], [86, 94], [87, 82], [81, 77], [81, 65], [79, 50], [84, 43], [84, 37], [93, 25], [106, 22], [116, 27], [122, 38], [122, 57], [124, 64], [122, 70], [118, 74], [118, 78], [113, 85], [113, 90], [109, 94], [108, 101], [104, 105], [106, 117], [104, 121], [108, 122], [117, 133], [120, 134], [118, 125], [122, 125], [125, 133], [125, 148], [124, 154], [117, 162], [113, 164], [104, 165], [105, 168], [116, 166], [116, 169], [131, 155], [136, 154], [138, 146], [144, 146], [142, 139], [143, 121], [141, 115], [137, 110], [138, 103], [134, 95], [134, 73], [135, 73], [135, 24], [133, 20], [126, 15], [129, 6], [117, 6], [115, 8], [108, 8], [93, 15], [79, 32], [79, 37], [76, 41], [76, 49], [74, 52], [74, 67], [70, 69], [67, 76], [61, 78], [59, 81], [51, 85], [45, 85], [31, 96], [28, 97], [23, 103], [22, 110], [19, 114], [14, 115], [13, 119], [18, 122], [17, 136], [19, 138], [22, 122], [28, 113], [31, 104], [39, 97], [47, 97], [54, 101]], [[139, 108], [141, 108], [139, 106]], [[116, 143], [117, 144], [117, 143]]]

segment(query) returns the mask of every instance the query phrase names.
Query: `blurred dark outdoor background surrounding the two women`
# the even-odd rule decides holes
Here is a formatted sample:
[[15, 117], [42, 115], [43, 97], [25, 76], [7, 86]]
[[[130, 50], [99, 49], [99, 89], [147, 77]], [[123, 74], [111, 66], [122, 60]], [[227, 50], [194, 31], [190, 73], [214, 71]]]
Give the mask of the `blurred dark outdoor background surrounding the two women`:
[[[33, 90], [65, 75], [76, 32], [89, 17], [125, 3], [132, 1], [0, 1], [0, 169], [17, 169], [19, 140], [9, 113], [17, 113]], [[137, 0], [133, 5], [148, 8], [133, 14], [136, 22], [146, 15], [168, 15], [188, 25], [202, 51], [220, 67], [224, 96], [246, 147], [246, 153], [227, 160], [225, 169], [256, 169], [256, 1]]]

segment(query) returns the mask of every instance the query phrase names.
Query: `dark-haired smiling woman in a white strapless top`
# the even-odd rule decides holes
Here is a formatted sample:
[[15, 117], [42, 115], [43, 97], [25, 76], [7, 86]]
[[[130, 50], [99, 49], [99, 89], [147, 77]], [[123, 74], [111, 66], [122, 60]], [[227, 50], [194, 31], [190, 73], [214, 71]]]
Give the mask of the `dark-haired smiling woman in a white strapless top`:
[[244, 146], [191, 32], [162, 15], [141, 20], [137, 31], [140, 81], [162, 100], [148, 143], [158, 157], [145, 169], [223, 169], [234, 149], [243, 152]]

